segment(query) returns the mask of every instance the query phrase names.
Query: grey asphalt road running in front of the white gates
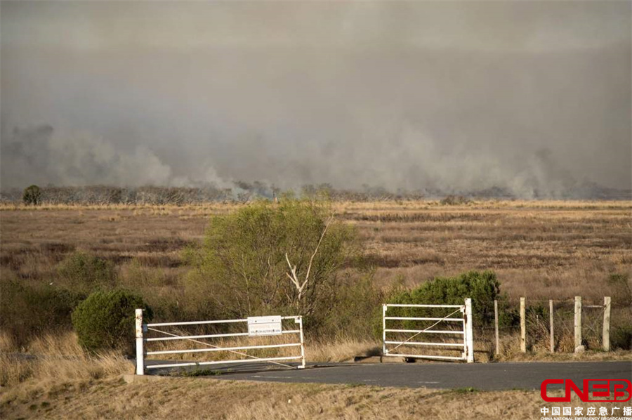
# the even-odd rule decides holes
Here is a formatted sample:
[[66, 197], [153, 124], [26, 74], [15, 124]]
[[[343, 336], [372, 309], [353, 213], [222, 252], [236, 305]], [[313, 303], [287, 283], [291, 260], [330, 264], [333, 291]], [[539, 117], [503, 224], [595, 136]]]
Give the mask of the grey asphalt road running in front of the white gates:
[[[147, 361], [155, 363], [156, 361]], [[200, 367], [209, 368], [209, 366]], [[632, 379], [631, 362], [565, 363], [338, 363], [310, 365], [307, 369], [244, 364], [218, 367], [213, 378], [272, 382], [352, 383], [409, 388], [466, 388], [480, 390], [539, 389], [545, 379]], [[162, 371], [162, 372], [160, 372]], [[152, 369], [164, 374], [166, 369]], [[173, 371], [171, 371], [173, 372]], [[207, 371], [208, 372], [208, 371]], [[218, 374], [220, 373], [220, 374]], [[549, 386], [553, 389], [555, 386]], [[558, 386], [561, 388], [561, 386]]]

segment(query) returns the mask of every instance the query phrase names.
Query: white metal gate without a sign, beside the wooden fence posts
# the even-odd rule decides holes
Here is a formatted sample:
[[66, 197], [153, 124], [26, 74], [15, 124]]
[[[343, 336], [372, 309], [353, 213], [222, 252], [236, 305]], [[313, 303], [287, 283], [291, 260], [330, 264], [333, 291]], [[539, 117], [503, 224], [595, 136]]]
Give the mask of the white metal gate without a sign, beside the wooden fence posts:
[[[447, 308], [446, 312], [449, 312], [444, 317], [414, 317], [414, 316], [387, 316], [389, 308]], [[459, 315], [456, 315], [459, 314]], [[433, 322], [429, 327], [423, 329], [408, 329], [404, 327], [400, 328], [387, 328], [387, 322], [392, 324], [392, 321], [420, 321], [420, 322]], [[445, 326], [446, 327], [442, 327]], [[437, 327], [438, 326], [438, 327]], [[463, 305], [407, 305], [407, 304], [395, 304], [388, 303], [382, 308], [382, 354], [385, 356], [397, 356], [397, 357], [412, 357], [422, 359], [437, 359], [437, 360], [465, 360], [468, 363], [474, 362], [474, 337], [472, 328], [472, 299], [466, 299]], [[391, 334], [389, 334], [391, 333]], [[407, 339], [387, 339], [387, 335], [397, 333], [400, 336], [402, 334], [411, 334]], [[442, 341], [413, 341], [414, 338], [424, 334], [424, 336], [462, 336], [463, 341], [445, 343]], [[430, 339], [428, 339], [430, 340]], [[387, 347], [390, 346], [390, 348]], [[447, 355], [430, 355], [423, 354], [423, 350], [419, 354], [404, 354], [397, 353], [397, 349], [402, 346], [419, 346], [420, 349], [435, 347], [443, 349], [462, 349], [461, 356], [447, 356]]]

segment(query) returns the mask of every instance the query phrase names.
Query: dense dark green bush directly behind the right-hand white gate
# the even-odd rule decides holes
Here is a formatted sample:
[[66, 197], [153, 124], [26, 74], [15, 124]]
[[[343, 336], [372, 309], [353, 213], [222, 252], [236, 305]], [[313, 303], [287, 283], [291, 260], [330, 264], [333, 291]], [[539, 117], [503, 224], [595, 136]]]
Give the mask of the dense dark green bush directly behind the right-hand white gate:
[[[463, 305], [465, 298], [472, 299], [474, 322], [478, 326], [494, 320], [494, 299], [500, 294], [500, 284], [492, 271], [469, 271], [456, 277], [436, 277], [416, 289], [402, 291], [390, 298], [389, 303]], [[402, 308], [410, 314], [412, 309]], [[419, 313], [419, 310], [416, 310]], [[438, 317], [445, 309], [426, 310], [428, 316]], [[404, 315], [412, 316], [412, 315]], [[419, 315], [417, 315], [419, 316]]]

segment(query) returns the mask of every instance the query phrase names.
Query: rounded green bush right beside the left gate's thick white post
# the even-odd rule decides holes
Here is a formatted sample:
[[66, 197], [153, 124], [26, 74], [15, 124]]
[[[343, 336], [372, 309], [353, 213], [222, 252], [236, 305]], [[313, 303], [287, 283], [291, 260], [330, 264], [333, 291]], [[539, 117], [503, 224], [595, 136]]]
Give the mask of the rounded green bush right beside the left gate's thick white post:
[[151, 308], [136, 294], [124, 289], [94, 292], [72, 313], [79, 344], [92, 352], [120, 349], [132, 354], [137, 308], [145, 309], [143, 319], [151, 320]]

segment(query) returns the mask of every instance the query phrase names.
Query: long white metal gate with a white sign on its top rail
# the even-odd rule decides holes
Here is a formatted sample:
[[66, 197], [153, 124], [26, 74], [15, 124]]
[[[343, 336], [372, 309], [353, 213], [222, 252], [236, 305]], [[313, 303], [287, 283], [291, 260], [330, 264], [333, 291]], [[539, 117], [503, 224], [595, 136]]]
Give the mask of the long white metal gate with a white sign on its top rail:
[[[282, 320], [294, 320], [296, 324], [298, 324], [298, 329], [283, 329]], [[244, 332], [231, 332], [228, 334], [201, 334], [201, 335], [190, 335], [190, 336], [182, 336], [178, 334], [173, 334], [170, 332], [162, 331], [162, 329], [157, 329], [157, 327], [175, 327], [175, 326], [185, 326], [185, 325], [201, 325], [201, 324], [233, 324], [233, 323], [243, 323], [247, 325], [247, 329]], [[157, 337], [146, 337], [145, 333], [147, 332], [156, 332], [158, 334], [163, 334], [162, 336]], [[225, 337], [260, 337], [260, 336], [276, 336], [283, 334], [295, 334], [298, 339], [296, 342], [292, 343], [282, 343], [282, 344], [264, 344], [264, 345], [254, 345], [254, 346], [230, 346], [230, 347], [222, 347], [216, 346], [211, 343], [207, 343], [205, 341], [199, 341], [200, 339], [216, 339], [216, 338], [225, 338]], [[185, 349], [185, 350], [157, 350], [157, 351], [147, 351], [146, 346], [152, 341], [172, 341], [172, 340], [187, 340], [192, 341], [197, 344], [201, 344], [202, 346], [206, 346], [206, 348], [193, 348], [193, 349]], [[289, 355], [283, 357], [255, 357], [254, 355], [249, 355], [244, 353], [244, 351], [239, 350], [254, 350], [261, 348], [300, 348], [300, 354], [298, 355]], [[203, 353], [203, 352], [218, 352], [225, 351], [232, 354], [237, 354], [241, 356], [245, 356], [245, 359], [235, 359], [235, 360], [213, 360], [208, 362], [182, 362], [182, 363], [169, 363], [169, 364], [155, 364], [155, 365], [147, 365], [145, 360], [145, 356], [147, 355], [168, 355], [168, 354], [180, 354], [180, 353]], [[271, 362], [277, 365], [283, 365], [287, 367], [291, 367], [289, 365], [284, 365], [279, 363], [280, 360], [301, 360], [301, 365], [298, 365], [296, 369], [303, 369], [305, 367], [305, 343], [303, 340], [303, 318], [301, 316], [290, 316], [290, 317], [282, 317], [282, 316], [269, 316], [269, 317], [249, 317], [242, 320], [211, 320], [211, 321], [194, 321], [194, 322], [158, 322], [154, 324], [143, 324], [143, 310], [136, 310], [136, 374], [143, 375], [145, 374], [145, 369], [159, 369], [166, 367], [180, 367], [180, 366], [197, 366], [197, 365], [223, 365], [226, 363], [247, 363], [247, 362]]]

